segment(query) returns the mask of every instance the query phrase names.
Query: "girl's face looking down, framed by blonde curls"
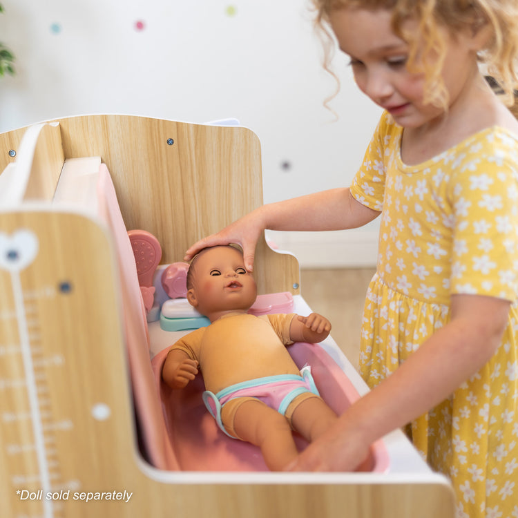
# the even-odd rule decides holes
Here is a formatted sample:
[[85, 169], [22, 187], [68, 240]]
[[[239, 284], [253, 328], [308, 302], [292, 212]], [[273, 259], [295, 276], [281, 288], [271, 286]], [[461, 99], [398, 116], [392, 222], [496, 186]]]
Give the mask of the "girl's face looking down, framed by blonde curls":
[[[424, 74], [407, 70], [410, 48], [392, 32], [389, 10], [341, 8], [332, 11], [329, 21], [340, 49], [351, 58], [356, 84], [397, 124], [419, 128], [443, 115], [443, 108], [423, 103]], [[412, 23], [409, 21], [405, 29], [412, 29]], [[445, 37], [448, 53], [442, 76], [451, 106], [472, 73], [473, 56], [465, 38], [451, 41]], [[476, 65], [476, 53], [474, 56]]]

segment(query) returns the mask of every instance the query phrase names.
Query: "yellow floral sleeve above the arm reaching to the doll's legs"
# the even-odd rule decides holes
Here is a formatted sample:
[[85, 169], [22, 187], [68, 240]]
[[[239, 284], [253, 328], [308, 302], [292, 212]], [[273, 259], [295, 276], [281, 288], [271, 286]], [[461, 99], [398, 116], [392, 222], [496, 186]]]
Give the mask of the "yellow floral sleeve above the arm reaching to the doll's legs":
[[[477, 159], [459, 160], [449, 184], [453, 207], [452, 294], [514, 301], [518, 294], [518, 142], [487, 137]], [[490, 145], [488, 145], [490, 144]]]

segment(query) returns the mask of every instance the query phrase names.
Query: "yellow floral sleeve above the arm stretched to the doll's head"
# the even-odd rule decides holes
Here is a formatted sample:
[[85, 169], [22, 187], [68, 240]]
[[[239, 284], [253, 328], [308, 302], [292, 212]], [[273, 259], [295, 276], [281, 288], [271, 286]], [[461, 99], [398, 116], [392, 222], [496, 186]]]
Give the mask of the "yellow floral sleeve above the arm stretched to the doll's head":
[[383, 209], [387, 164], [399, 149], [400, 137], [401, 128], [388, 113], [383, 113], [350, 186], [354, 198], [375, 211]]

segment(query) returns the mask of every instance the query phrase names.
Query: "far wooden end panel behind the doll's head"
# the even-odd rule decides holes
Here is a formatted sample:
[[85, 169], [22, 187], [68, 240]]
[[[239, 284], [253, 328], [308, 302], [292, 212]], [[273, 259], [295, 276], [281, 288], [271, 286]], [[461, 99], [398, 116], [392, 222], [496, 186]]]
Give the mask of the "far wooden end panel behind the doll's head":
[[[153, 233], [162, 264], [180, 261], [196, 240], [262, 204], [260, 143], [247, 128], [204, 126], [126, 115], [59, 119], [65, 158], [100, 156], [108, 166], [126, 228]], [[23, 135], [0, 135], [0, 171]], [[168, 142], [172, 142], [168, 144]], [[259, 293], [298, 294], [298, 262], [256, 251]]]

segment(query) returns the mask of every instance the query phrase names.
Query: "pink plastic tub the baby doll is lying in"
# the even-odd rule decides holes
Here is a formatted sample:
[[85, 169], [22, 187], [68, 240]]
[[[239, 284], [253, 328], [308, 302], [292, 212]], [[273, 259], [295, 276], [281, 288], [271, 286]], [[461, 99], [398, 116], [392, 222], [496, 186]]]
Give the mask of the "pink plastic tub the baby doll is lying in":
[[[171, 470], [184, 471], [267, 471], [256, 446], [227, 437], [216, 425], [202, 401], [204, 383], [200, 375], [187, 387], [173, 390], [162, 381], [161, 372], [169, 348], [152, 361], [155, 381], [160, 387], [160, 400], [175, 460]], [[333, 359], [318, 345], [294, 343], [289, 352], [299, 368], [311, 365], [320, 395], [338, 414], [351, 405], [359, 394]], [[295, 434], [298, 448], [307, 442]], [[177, 464], [178, 462], [178, 464]], [[372, 445], [369, 459], [360, 471], [384, 472], [388, 454], [383, 441]]]

